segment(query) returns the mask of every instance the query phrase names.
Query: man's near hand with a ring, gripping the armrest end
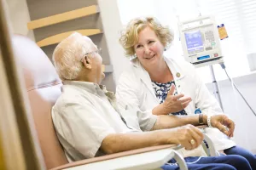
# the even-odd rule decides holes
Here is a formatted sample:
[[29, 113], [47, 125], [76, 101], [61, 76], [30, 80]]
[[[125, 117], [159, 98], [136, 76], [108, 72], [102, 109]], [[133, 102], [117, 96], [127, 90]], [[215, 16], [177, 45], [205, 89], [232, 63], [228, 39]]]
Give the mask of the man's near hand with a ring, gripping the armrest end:
[[201, 144], [204, 138], [201, 130], [193, 125], [176, 127], [173, 130], [172, 138], [177, 140], [176, 144], [183, 145], [186, 150], [194, 150]]

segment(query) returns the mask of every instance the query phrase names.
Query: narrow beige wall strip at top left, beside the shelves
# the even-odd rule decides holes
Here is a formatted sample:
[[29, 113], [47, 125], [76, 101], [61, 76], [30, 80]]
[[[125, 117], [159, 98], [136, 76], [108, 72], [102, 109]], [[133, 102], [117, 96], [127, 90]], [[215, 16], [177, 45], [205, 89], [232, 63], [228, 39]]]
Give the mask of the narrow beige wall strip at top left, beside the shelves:
[[7, 0], [6, 2], [12, 31], [34, 40], [33, 32], [26, 27], [26, 23], [30, 21], [26, 0]]

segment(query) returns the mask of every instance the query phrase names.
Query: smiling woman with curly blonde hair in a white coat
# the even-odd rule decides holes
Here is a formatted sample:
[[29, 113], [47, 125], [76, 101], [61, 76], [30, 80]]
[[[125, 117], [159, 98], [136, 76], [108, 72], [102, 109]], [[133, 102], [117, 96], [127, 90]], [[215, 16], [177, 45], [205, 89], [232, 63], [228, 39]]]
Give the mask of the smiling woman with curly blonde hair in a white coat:
[[[126, 56], [132, 57], [130, 67], [119, 78], [116, 91], [119, 105], [160, 115], [160, 118], [161, 115], [189, 117], [201, 110], [199, 122], [207, 116], [210, 126], [216, 124], [211, 116], [223, 114], [223, 111], [201, 82], [194, 66], [163, 56], [172, 41], [171, 31], [158, 20], [151, 17], [131, 20], [119, 39]], [[220, 121], [225, 122], [225, 117], [222, 118]], [[236, 146], [224, 126], [219, 130], [223, 133], [217, 128], [206, 129], [216, 149], [227, 155], [241, 155], [256, 169], [256, 157]], [[183, 151], [184, 156], [189, 154], [191, 152]]]

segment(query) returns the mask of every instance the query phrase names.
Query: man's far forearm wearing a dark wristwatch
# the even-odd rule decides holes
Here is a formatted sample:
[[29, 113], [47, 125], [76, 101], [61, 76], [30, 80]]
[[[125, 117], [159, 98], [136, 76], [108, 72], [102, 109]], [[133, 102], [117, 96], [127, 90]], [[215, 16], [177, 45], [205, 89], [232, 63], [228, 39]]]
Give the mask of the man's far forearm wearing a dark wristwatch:
[[[207, 124], [207, 116], [203, 115], [203, 122]], [[154, 129], [164, 129], [172, 127], [181, 127], [183, 125], [191, 124], [194, 126], [199, 125], [199, 115], [192, 116], [166, 116], [161, 115], [158, 117], [157, 122], [154, 124]]]

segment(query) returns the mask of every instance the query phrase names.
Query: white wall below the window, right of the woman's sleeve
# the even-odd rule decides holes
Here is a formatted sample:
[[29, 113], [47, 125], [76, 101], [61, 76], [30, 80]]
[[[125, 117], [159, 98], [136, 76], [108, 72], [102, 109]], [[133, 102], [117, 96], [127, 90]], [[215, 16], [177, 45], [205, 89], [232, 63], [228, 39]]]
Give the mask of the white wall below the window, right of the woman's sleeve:
[[[253, 111], [256, 112], [256, 73], [233, 79], [237, 88], [244, 95]], [[256, 154], [256, 116], [249, 110], [229, 80], [218, 82], [224, 113], [236, 122], [234, 140], [236, 144]], [[212, 84], [207, 88], [213, 93]]]

